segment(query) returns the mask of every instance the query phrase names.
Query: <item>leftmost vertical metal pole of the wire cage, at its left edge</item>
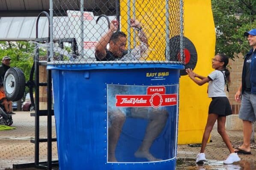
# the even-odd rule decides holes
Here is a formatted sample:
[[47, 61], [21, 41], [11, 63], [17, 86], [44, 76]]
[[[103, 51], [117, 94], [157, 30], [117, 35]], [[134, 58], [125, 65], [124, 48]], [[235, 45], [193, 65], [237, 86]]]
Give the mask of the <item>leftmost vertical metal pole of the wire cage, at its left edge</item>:
[[52, 62], [54, 59], [53, 10], [53, 0], [50, 0], [50, 59], [48, 59], [48, 62]]

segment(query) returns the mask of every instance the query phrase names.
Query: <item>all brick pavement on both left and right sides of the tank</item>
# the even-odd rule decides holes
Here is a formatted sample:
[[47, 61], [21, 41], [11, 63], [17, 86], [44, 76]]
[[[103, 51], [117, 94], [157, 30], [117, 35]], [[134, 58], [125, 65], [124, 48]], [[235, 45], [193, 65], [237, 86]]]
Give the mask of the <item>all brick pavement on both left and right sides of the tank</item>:
[[[13, 115], [15, 130], [0, 131], [0, 170], [12, 168], [12, 164], [24, 164], [34, 162], [34, 144], [30, 138], [34, 137], [34, 117], [30, 112], [16, 112]], [[47, 136], [47, 119], [40, 117], [40, 138]], [[55, 133], [55, 122], [53, 119], [53, 137]], [[241, 131], [228, 131], [234, 147], [242, 143]], [[195, 157], [200, 147], [189, 145], [178, 146], [177, 170], [256, 170], [256, 145], [252, 144], [252, 155], [241, 155], [242, 161], [235, 165], [223, 165], [223, 160], [229, 154], [216, 127], [212, 132], [212, 142], [206, 147], [206, 158], [210, 161], [204, 166], [195, 166]], [[40, 144], [40, 161], [47, 161], [47, 143]], [[183, 159], [185, 158], [185, 159]], [[57, 160], [56, 142], [53, 144], [53, 159]]]

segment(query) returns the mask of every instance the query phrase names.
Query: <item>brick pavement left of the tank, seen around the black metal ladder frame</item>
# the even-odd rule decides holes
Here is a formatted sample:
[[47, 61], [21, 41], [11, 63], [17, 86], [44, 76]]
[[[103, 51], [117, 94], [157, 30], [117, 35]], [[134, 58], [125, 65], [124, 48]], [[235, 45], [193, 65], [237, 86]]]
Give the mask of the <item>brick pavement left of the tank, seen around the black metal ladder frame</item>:
[[[11, 168], [12, 164], [24, 164], [34, 161], [34, 144], [30, 138], [35, 136], [35, 117], [30, 117], [30, 112], [15, 112], [12, 116], [15, 130], [0, 131], [0, 170]], [[56, 137], [55, 122], [53, 119], [53, 137]], [[47, 137], [47, 119], [40, 117], [40, 138]], [[47, 143], [41, 143], [40, 161], [47, 161]], [[53, 159], [57, 160], [57, 145], [53, 142]]]

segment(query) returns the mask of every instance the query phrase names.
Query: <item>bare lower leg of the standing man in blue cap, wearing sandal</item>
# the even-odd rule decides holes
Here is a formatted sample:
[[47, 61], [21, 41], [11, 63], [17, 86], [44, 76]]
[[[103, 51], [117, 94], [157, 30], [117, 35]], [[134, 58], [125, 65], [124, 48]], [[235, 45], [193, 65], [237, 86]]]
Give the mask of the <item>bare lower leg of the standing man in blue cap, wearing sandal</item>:
[[[244, 143], [239, 149], [250, 152], [250, 138], [253, 130], [253, 124], [251, 121], [243, 120], [243, 134], [244, 134]], [[235, 152], [238, 150], [235, 149]]]

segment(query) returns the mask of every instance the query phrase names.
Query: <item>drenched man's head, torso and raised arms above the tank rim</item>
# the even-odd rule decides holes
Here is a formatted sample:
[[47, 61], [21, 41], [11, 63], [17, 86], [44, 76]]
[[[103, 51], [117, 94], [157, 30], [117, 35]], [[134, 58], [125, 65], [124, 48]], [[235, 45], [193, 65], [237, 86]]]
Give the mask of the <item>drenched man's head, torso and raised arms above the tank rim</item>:
[[[116, 60], [144, 60], [146, 51], [149, 47], [148, 39], [143, 31], [143, 28], [139, 21], [131, 19], [131, 27], [137, 30], [137, 35], [140, 40], [140, 44], [131, 50], [131, 55], [128, 55], [126, 50], [126, 35], [124, 32], [118, 31], [118, 21], [112, 21], [110, 23], [110, 29], [105, 35], [101, 37], [95, 46], [95, 57], [97, 61], [116, 61]], [[109, 44], [109, 49], [107, 49]]]

